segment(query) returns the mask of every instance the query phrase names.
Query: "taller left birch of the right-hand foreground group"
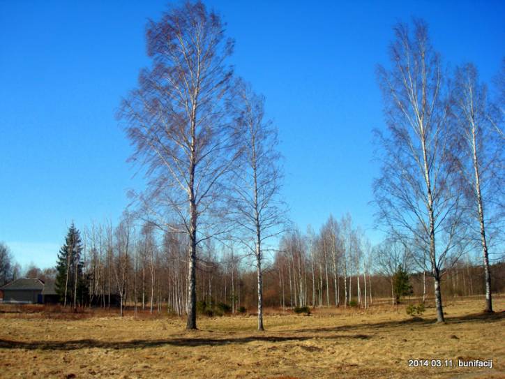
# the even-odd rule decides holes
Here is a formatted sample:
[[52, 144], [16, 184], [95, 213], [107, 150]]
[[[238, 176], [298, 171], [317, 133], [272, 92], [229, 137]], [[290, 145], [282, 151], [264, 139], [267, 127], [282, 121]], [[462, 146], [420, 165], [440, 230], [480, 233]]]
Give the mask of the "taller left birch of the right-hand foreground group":
[[377, 133], [382, 153], [382, 173], [374, 183], [377, 220], [395, 239], [408, 245], [419, 237], [429, 246], [437, 321], [444, 322], [440, 278], [446, 255], [457, 251], [461, 237], [444, 75], [424, 22], [414, 20], [413, 34], [405, 24], [394, 31], [392, 68], [378, 68], [388, 133]]

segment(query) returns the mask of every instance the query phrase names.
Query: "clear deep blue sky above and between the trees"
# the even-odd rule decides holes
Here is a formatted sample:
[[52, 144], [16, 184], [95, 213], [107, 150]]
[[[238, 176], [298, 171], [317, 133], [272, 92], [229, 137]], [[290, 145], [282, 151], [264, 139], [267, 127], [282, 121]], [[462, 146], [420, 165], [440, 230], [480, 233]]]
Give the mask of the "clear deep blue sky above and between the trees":
[[[266, 96], [302, 230], [346, 211], [372, 228], [375, 66], [395, 22], [424, 18], [444, 61], [473, 61], [483, 80], [505, 56], [504, 1], [205, 2], [236, 40], [236, 73]], [[149, 64], [146, 20], [166, 4], [0, 0], [0, 241], [22, 265], [54, 265], [71, 221], [115, 222], [142, 186], [114, 114]]]

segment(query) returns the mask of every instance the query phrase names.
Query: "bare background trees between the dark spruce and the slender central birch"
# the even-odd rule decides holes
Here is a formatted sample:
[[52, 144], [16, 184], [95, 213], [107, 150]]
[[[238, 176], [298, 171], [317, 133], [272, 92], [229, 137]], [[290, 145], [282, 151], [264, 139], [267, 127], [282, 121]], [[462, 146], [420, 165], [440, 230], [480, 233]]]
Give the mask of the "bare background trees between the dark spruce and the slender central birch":
[[[124, 214], [118, 225], [95, 224], [83, 233], [82, 276], [87, 287], [83, 306], [110, 308], [128, 306], [137, 311], [183, 315], [188, 313], [188, 237], [163, 232], [132, 214]], [[228, 239], [216, 244], [207, 239], [197, 248], [195, 260], [195, 302], [230, 304], [235, 313], [241, 307], [244, 258], [237, 255], [237, 243]], [[251, 288], [256, 288], [252, 283]], [[249, 289], [250, 292], [250, 289]], [[251, 302], [248, 302], [250, 306]]]

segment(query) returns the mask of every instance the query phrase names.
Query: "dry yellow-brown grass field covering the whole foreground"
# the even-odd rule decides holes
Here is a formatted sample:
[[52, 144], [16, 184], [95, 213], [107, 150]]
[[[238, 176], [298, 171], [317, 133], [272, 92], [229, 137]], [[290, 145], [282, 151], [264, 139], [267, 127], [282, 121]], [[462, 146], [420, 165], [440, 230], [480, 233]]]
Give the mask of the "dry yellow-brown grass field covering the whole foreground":
[[[505, 378], [505, 297], [446, 300], [412, 320], [399, 306], [326, 309], [310, 316], [119, 318], [0, 313], [1, 378]], [[83, 317], [81, 317], [83, 316]], [[414, 368], [409, 359], [492, 359], [492, 369]]]

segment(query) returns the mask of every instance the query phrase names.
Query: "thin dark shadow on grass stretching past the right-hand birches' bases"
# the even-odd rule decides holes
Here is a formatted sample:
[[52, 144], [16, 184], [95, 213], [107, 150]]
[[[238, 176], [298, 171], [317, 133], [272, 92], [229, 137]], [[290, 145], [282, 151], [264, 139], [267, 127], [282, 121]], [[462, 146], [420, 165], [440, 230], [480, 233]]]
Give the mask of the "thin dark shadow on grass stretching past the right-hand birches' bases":
[[[462, 322], [497, 322], [505, 318], [505, 311], [495, 312], [495, 313], [473, 313], [470, 315], [462, 315], [458, 317], [446, 317], [446, 324], [460, 324]], [[348, 332], [356, 329], [384, 329], [384, 328], [395, 328], [395, 327], [405, 327], [406, 325], [412, 325], [412, 327], [419, 327], [423, 325], [435, 325], [437, 319], [423, 319], [423, 318], [411, 318], [408, 320], [400, 321], [383, 321], [383, 322], [373, 322], [373, 323], [362, 323], [356, 325], [341, 325], [338, 327], [317, 327], [309, 329], [296, 329], [292, 330], [292, 333], [327, 333], [327, 332]], [[287, 332], [287, 331], [285, 331]]]

